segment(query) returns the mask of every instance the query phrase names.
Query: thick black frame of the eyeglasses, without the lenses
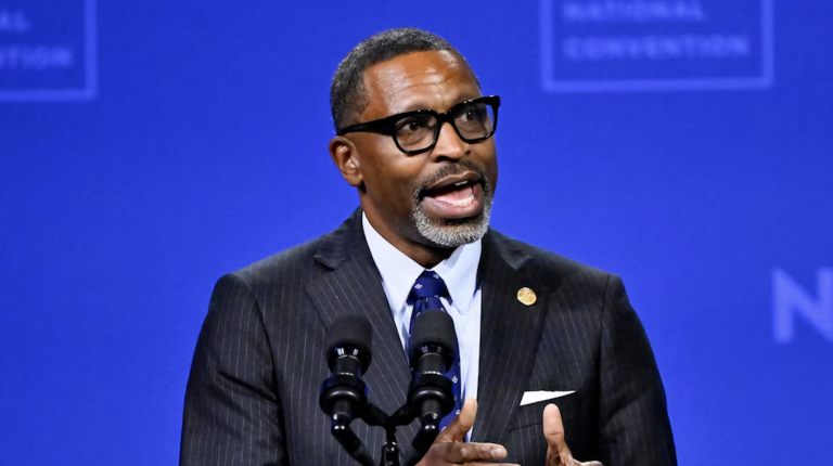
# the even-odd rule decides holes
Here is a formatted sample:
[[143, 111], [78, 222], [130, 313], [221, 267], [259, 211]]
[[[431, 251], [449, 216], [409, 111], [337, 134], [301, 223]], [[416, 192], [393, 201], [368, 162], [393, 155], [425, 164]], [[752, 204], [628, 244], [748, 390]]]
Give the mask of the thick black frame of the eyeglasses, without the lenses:
[[[471, 105], [473, 103], [485, 103], [491, 106], [492, 112], [495, 113], [494, 121], [491, 125], [491, 132], [489, 132], [488, 134], [480, 138], [466, 139], [462, 134], [460, 134], [460, 130], [457, 128], [457, 124], [454, 122], [454, 118], [452, 115], [459, 107]], [[500, 107], [499, 95], [479, 96], [479, 98], [470, 99], [467, 101], [457, 103], [453, 106], [451, 106], [451, 108], [449, 108], [448, 112], [437, 112], [430, 108], [405, 112], [396, 115], [386, 116], [384, 118], [374, 119], [371, 121], [350, 125], [346, 128], [342, 128], [338, 131], [336, 131], [336, 134], [345, 135], [350, 132], [375, 132], [380, 134], [387, 134], [394, 140], [394, 144], [396, 144], [399, 151], [408, 155], [416, 155], [416, 154], [422, 154], [424, 152], [428, 152], [437, 145], [437, 141], [439, 140], [439, 131], [443, 129], [443, 125], [446, 122], [450, 124], [451, 128], [454, 129], [454, 132], [457, 133], [457, 135], [460, 137], [460, 139], [467, 144], [485, 141], [491, 138], [492, 135], [495, 135], [495, 131], [497, 131], [498, 129], [498, 107]], [[428, 145], [425, 148], [407, 151], [402, 148], [401, 145], [399, 145], [399, 140], [396, 139], [396, 122], [401, 120], [402, 118], [407, 118], [414, 115], [434, 116], [434, 118], [437, 120], [437, 127], [434, 129], [434, 141], [432, 141], [431, 145]]]

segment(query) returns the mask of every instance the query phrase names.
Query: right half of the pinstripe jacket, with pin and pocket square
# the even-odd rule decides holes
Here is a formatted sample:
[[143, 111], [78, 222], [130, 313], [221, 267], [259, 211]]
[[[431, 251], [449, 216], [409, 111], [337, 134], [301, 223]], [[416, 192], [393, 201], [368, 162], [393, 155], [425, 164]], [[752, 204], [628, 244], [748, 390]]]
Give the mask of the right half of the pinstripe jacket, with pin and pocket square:
[[[605, 466], [676, 465], [665, 392], [642, 324], [615, 275], [491, 231], [482, 260], [482, 396], [473, 441], [495, 441], [509, 462], [546, 464], [548, 402], [524, 391], [576, 390], [553, 400], [574, 456]], [[521, 287], [537, 294], [526, 307]], [[483, 415], [480, 415], [483, 414]]]

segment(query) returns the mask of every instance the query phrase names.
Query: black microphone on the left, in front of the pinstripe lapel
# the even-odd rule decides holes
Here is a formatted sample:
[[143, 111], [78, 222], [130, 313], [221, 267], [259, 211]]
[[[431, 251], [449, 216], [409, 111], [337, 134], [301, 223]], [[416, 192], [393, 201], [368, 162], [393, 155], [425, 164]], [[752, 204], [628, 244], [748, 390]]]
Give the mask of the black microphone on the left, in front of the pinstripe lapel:
[[324, 358], [332, 375], [321, 384], [319, 404], [330, 417], [331, 432], [347, 453], [364, 466], [373, 457], [350, 429], [355, 418], [369, 410], [368, 386], [361, 379], [372, 361], [373, 329], [359, 315], [345, 315], [328, 328]]

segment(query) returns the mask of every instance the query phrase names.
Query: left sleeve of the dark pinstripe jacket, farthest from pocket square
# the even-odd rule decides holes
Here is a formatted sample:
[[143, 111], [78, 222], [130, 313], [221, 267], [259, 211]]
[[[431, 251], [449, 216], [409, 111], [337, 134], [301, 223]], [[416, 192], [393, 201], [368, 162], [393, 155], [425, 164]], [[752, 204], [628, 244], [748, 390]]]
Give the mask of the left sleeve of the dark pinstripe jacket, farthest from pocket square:
[[181, 466], [286, 464], [272, 368], [252, 289], [236, 275], [221, 277], [188, 380]]

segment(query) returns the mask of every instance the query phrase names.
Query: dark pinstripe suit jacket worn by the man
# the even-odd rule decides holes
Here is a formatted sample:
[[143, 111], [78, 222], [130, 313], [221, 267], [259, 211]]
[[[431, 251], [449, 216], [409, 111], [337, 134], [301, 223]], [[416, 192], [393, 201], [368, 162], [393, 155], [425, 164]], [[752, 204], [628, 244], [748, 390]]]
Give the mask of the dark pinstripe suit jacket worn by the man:
[[[543, 403], [524, 391], [576, 390], [554, 402], [575, 457], [605, 466], [675, 465], [665, 394], [645, 333], [618, 277], [489, 231], [479, 267], [483, 318], [473, 441], [543, 466]], [[516, 299], [522, 287], [538, 296]], [[373, 324], [370, 400], [393, 413], [410, 372], [361, 228], [338, 230], [217, 283], [188, 383], [181, 465], [355, 465], [318, 406], [329, 376], [324, 328], [344, 313]], [[382, 429], [355, 422], [375, 455]], [[403, 455], [416, 424], [399, 430]], [[408, 458], [406, 457], [406, 461]]]

